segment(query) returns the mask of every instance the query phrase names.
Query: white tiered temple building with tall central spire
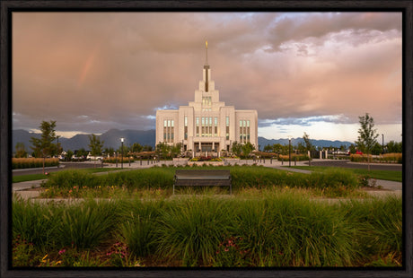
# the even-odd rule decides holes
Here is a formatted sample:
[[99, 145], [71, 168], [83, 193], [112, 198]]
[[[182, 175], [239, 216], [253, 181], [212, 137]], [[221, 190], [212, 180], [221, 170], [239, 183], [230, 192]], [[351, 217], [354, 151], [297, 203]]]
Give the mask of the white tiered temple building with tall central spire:
[[236, 110], [219, 101], [207, 62], [195, 100], [180, 109], [156, 111], [156, 143], [182, 143], [184, 151], [220, 152], [250, 142], [258, 149], [257, 110]]

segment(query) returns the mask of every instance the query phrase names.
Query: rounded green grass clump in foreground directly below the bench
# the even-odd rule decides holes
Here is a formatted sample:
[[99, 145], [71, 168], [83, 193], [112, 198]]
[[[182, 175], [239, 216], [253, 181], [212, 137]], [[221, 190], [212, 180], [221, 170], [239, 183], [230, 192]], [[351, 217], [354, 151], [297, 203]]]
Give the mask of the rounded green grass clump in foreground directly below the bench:
[[216, 247], [232, 225], [233, 213], [225, 202], [191, 197], [168, 203], [156, 230], [156, 254], [184, 266], [211, 265]]

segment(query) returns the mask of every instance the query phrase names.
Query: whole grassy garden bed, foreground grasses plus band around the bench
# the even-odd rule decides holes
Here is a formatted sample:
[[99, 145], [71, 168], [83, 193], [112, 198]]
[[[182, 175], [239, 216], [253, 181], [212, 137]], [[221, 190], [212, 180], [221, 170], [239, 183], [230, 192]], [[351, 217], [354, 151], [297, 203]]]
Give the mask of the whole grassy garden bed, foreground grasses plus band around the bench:
[[53, 173], [41, 197], [61, 202], [13, 199], [13, 266], [401, 264], [401, 197], [367, 197], [353, 173], [220, 167], [233, 195], [172, 195], [176, 169], [193, 168]]

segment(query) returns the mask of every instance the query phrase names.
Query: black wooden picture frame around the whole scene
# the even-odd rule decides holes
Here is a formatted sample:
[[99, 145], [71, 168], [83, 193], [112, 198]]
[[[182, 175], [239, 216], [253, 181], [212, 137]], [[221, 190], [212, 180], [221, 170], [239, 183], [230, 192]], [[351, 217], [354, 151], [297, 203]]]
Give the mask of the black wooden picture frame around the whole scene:
[[[12, 180], [12, 13], [31, 11], [380, 11], [403, 16], [403, 266], [396, 268], [13, 269], [10, 264]], [[407, 1], [10, 1], [1, 2], [0, 276], [1, 277], [413, 277], [413, 2]]]

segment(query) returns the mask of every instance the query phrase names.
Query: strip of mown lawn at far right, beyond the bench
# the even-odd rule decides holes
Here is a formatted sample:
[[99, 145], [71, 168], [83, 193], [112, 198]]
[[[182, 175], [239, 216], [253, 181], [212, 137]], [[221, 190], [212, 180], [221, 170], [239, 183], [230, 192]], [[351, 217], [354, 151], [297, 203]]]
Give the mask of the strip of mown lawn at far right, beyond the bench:
[[[318, 171], [322, 172], [325, 171], [326, 169], [331, 169], [331, 167], [328, 166], [293, 166], [291, 168], [295, 169], [307, 169], [307, 170], [312, 170], [312, 171]], [[366, 169], [349, 169], [349, 168], [339, 168], [338, 169], [343, 169], [346, 171], [350, 171], [356, 175], [369, 175], [372, 178], [376, 179], [383, 179], [383, 180], [392, 180], [392, 181], [402, 181], [402, 172], [401, 171], [391, 171], [391, 170], [379, 170], [379, 169], [372, 169], [370, 171]]]

